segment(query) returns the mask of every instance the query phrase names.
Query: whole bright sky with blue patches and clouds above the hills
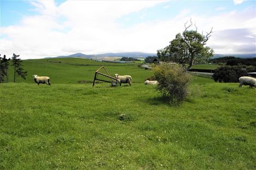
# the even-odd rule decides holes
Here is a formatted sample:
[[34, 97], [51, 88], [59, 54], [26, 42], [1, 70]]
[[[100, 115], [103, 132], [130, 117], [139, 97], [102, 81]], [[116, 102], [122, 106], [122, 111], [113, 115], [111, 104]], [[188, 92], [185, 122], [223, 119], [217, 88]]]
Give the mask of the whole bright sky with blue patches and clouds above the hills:
[[[0, 54], [156, 53], [190, 20], [216, 54], [256, 53], [256, 1], [4, 1]], [[196, 27], [189, 29], [195, 30]]]

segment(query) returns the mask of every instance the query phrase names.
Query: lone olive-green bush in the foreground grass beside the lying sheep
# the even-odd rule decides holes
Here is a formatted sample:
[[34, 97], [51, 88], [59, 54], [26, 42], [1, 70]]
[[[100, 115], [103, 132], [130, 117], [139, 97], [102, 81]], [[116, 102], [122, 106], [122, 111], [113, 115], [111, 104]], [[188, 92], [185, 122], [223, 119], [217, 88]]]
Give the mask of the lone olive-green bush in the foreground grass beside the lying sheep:
[[156, 89], [163, 97], [167, 97], [170, 103], [184, 100], [188, 95], [188, 84], [191, 75], [176, 64], [162, 64], [154, 67], [154, 74], [159, 84]]

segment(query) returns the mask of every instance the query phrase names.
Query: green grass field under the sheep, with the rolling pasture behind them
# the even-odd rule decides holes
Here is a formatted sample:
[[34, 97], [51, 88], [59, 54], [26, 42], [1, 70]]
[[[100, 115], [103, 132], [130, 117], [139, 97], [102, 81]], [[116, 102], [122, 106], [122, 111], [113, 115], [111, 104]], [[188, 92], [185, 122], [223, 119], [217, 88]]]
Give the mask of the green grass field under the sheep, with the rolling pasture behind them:
[[52, 85], [0, 84], [0, 169], [256, 169], [255, 89], [193, 77], [188, 99], [170, 106], [136, 64], [104, 63], [132, 75], [121, 87], [77, 83], [101, 62], [23, 64]]

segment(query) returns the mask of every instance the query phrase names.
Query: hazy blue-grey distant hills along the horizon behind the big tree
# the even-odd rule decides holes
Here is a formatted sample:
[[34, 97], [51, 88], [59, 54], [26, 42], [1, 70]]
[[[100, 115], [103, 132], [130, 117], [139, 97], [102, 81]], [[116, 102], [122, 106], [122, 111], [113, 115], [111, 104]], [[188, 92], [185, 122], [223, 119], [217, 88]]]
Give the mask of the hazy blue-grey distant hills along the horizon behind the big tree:
[[[92, 55], [76, 53], [76, 54], [71, 54], [71, 55], [56, 56], [55, 58], [100, 59], [100, 58], [105, 58], [105, 57], [146, 58], [147, 56], [156, 56], [156, 53], [125, 52], [125, 53], [105, 53], [105, 54], [92, 54]], [[220, 58], [223, 56], [235, 56], [237, 58], [254, 58], [254, 57], [256, 57], [256, 54], [214, 54], [214, 56], [212, 58]], [[46, 58], [52, 58], [52, 57], [46, 57]]]

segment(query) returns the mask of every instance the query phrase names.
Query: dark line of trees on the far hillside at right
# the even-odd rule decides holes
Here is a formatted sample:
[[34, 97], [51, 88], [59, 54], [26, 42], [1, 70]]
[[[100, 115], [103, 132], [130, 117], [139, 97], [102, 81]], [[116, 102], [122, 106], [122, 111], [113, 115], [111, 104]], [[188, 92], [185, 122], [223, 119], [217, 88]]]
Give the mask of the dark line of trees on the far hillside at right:
[[256, 66], [256, 58], [235, 58], [234, 56], [224, 56], [222, 58], [210, 59], [210, 62], [213, 63], [221, 63], [224, 62], [229, 66], [237, 66], [237, 65], [247, 65], [247, 66]]

